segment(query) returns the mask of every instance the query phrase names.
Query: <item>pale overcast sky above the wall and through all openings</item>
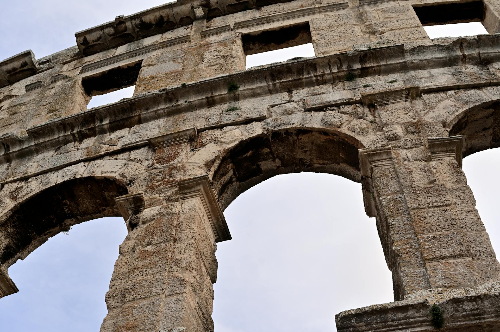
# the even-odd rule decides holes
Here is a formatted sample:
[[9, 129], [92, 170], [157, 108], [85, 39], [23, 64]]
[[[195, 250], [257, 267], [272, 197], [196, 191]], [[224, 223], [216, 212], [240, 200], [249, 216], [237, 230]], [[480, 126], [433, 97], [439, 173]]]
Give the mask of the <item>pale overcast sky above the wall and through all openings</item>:
[[[0, 59], [26, 49], [40, 58], [74, 45], [76, 31], [162, 3], [2, 3]], [[478, 26], [441, 33], [485, 33], [473, 30]], [[305, 45], [288, 50], [281, 58], [257, 55], [248, 66], [313, 53]], [[129, 95], [130, 89], [112, 98]], [[106, 98], [99, 103], [114, 101]], [[98, 105], [97, 98], [92, 102], [91, 106]], [[499, 163], [498, 150], [476, 153], [463, 161], [496, 252], [500, 251], [500, 227], [493, 188], [500, 180], [491, 175], [497, 173]], [[338, 312], [392, 301], [390, 273], [375, 220], [364, 214], [360, 184], [328, 174], [281, 175], [243, 193], [224, 215], [233, 240], [219, 243], [216, 253], [215, 332], [335, 331]], [[14, 264], [9, 274], [19, 293], [0, 300], [2, 329], [98, 331], [106, 314], [103, 299], [118, 244], [125, 235], [122, 218], [86, 222], [73, 227], [69, 235], [53, 237]]]

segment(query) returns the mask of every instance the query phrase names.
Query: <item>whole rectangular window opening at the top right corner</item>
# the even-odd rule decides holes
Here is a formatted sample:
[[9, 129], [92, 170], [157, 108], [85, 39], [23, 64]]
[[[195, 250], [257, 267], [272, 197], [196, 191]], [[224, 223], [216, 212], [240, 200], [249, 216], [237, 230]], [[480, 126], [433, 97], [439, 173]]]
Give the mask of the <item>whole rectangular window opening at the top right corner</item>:
[[420, 23], [430, 38], [487, 34], [490, 12], [482, 0], [460, 3], [414, 5]]

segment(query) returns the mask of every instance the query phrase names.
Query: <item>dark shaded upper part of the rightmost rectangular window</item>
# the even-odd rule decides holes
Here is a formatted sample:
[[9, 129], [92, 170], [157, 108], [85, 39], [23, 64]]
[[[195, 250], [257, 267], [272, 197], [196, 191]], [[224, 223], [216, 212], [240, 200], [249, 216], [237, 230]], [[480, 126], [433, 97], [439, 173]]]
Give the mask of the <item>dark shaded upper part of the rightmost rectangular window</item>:
[[482, 1], [414, 5], [413, 9], [423, 26], [479, 22], [484, 17]]

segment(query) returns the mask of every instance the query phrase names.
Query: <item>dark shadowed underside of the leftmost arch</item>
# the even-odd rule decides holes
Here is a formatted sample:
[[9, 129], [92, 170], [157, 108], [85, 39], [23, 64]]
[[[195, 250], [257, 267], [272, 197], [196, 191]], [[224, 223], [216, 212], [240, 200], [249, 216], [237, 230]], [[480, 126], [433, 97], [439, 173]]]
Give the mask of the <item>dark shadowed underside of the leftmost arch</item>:
[[31, 195], [0, 217], [0, 266], [8, 268], [73, 225], [102, 217], [121, 217], [114, 198], [125, 194], [126, 186], [113, 178], [88, 176]]

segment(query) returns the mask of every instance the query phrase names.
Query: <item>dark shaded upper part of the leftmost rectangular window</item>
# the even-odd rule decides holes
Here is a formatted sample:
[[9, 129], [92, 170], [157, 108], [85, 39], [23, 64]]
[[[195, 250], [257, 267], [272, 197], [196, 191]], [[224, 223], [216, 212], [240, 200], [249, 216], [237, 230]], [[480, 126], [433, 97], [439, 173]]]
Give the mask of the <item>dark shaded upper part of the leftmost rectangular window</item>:
[[142, 60], [83, 77], [81, 85], [89, 96], [123, 89], [135, 85], [141, 66]]

